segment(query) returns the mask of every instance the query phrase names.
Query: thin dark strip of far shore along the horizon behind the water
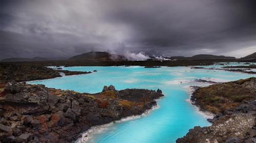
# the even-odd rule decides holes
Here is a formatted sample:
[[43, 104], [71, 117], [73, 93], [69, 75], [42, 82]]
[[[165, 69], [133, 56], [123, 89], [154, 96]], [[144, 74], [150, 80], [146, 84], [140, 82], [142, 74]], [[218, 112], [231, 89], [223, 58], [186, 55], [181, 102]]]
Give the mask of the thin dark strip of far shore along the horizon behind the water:
[[1, 65], [33, 66], [198, 66], [212, 65], [218, 62], [236, 62], [235, 60], [195, 60], [195, 61], [37, 61], [37, 62], [0, 62]]

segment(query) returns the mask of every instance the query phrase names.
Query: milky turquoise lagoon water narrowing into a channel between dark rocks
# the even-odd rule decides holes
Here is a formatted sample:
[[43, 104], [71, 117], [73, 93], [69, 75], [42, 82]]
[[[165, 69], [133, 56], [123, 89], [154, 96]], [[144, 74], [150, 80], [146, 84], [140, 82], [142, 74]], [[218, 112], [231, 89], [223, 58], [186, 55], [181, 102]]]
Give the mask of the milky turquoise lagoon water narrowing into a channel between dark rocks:
[[[211, 66], [214, 67], [214, 66]], [[194, 126], [209, 126], [207, 116], [191, 105], [190, 85], [209, 84], [195, 79], [231, 81], [253, 75], [222, 70], [190, 69], [189, 67], [144, 68], [132, 67], [63, 67], [70, 71], [93, 71], [91, 74], [63, 76], [54, 79], [30, 81], [47, 87], [78, 92], [101, 92], [104, 85], [113, 84], [117, 90], [126, 88], [158, 88], [165, 95], [158, 101], [159, 107], [146, 116], [126, 122], [114, 123], [104, 130], [90, 134], [88, 142], [175, 142]], [[181, 83], [182, 82], [182, 83]]]

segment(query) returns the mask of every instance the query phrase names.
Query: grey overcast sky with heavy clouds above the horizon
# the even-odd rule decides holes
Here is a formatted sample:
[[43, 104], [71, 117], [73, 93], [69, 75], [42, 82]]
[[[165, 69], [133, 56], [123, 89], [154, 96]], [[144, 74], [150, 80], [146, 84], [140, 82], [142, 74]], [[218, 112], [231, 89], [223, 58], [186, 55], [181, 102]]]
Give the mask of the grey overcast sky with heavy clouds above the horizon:
[[255, 0], [1, 0], [0, 59], [256, 52]]

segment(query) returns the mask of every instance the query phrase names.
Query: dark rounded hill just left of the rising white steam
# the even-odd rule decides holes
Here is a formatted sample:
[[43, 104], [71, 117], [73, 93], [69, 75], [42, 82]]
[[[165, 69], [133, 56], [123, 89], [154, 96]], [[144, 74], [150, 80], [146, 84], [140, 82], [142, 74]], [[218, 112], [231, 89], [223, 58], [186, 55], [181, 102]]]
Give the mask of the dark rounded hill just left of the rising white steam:
[[125, 61], [125, 56], [108, 52], [92, 51], [72, 56], [70, 61]]

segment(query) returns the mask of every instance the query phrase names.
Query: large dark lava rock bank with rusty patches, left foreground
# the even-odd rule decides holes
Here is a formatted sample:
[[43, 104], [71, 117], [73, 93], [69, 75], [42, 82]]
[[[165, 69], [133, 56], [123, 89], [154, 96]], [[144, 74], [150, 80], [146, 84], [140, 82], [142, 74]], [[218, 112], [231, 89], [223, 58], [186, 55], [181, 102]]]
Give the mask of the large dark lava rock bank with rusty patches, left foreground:
[[0, 142], [71, 142], [92, 126], [140, 115], [160, 91], [110, 85], [81, 94], [12, 81], [0, 93]]

